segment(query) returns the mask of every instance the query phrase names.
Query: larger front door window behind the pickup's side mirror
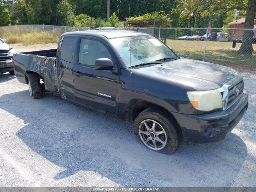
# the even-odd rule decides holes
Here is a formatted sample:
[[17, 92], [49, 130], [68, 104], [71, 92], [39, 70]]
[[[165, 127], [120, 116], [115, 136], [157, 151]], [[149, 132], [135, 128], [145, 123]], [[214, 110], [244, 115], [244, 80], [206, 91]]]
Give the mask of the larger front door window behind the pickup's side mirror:
[[82, 39], [79, 48], [79, 63], [94, 66], [95, 60], [98, 58], [112, 60], [111, 54], [104, 44], [96, 40]]

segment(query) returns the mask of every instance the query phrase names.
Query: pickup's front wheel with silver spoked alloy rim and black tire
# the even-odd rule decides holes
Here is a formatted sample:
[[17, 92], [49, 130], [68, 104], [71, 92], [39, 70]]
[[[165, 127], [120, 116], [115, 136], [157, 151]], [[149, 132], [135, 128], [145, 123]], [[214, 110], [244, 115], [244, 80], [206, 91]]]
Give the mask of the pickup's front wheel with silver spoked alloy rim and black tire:
[[[145, 123], [149, 129], [146, 128]], [[135, 119], [134, 134], [140, 144], [164, 154], [173, 154], [182, 142], [182, 132], [177, 122], [160, 108], [148, 108], [142, 111]], [[159, 142], [160, 140], [162, 141]]]

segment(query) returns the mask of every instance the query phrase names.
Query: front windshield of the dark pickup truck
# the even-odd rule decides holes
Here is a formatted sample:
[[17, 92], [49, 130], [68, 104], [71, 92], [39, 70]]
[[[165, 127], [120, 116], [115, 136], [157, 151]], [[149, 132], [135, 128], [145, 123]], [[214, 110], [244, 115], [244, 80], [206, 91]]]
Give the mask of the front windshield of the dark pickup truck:
[[[110, 39], [127, 67], [178, 57], [161, 41], [152, 36], [130, 36]], [[132, 45], [132, 46], [131, 46]]]

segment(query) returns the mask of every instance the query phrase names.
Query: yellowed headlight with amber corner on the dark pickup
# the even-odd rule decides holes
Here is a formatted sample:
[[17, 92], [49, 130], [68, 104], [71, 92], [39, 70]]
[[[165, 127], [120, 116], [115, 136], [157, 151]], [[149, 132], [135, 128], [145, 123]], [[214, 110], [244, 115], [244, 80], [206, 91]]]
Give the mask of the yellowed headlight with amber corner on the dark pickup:
[[222, 96], [216, 89], [209, 91], [188, 91], [187, 95], [192, 106], [200, 111], [223, 108]]

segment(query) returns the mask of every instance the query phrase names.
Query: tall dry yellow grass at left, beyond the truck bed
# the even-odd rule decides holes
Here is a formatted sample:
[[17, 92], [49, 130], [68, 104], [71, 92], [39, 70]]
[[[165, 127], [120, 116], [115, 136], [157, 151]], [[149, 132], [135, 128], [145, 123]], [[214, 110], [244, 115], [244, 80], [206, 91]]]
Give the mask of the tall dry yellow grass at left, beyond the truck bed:
[[7, 40], [8, 44], [22, 43], [25, 46], [32, 44], [58, 43], [62, 30], [55, 29], [53, 31], [21, 30], [13, 28], [6, 30], [0, 28], [0, 36]]

